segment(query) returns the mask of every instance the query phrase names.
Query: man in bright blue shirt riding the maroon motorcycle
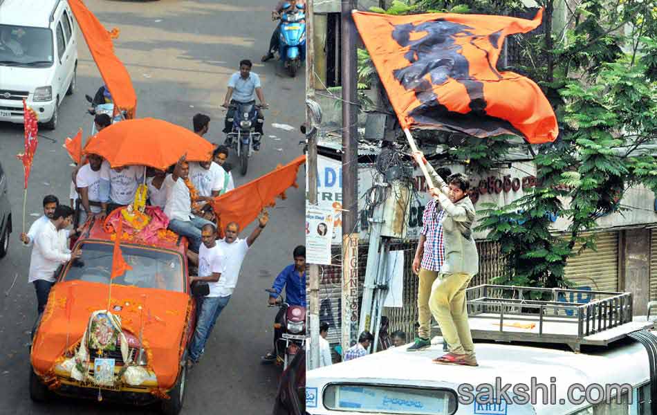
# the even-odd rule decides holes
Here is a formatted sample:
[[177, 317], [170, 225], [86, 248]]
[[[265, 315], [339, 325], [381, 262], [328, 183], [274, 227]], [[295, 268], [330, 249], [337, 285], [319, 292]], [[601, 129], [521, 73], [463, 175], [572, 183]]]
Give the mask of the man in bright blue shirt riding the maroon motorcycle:
[[[277, 304], [277, 298], [285, 288], [285, 302], [290, 306], [306, 307], [306, 247], [297, 246], [293, 251], [295, 259], [294, 264], [286, 266], [274, 280], [272, 291], [269, 295], [269, 305]], [[274, 349], [263, 356], [264, 362], [273, 362], [276, 360], [276, 343], [281, 337], [283, 327], [285, 326], [286, 306], [282, 306], [276, 315], [275, 322], [280, 324], [278, 329], [274, 329]]]

